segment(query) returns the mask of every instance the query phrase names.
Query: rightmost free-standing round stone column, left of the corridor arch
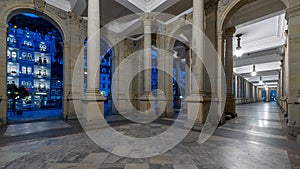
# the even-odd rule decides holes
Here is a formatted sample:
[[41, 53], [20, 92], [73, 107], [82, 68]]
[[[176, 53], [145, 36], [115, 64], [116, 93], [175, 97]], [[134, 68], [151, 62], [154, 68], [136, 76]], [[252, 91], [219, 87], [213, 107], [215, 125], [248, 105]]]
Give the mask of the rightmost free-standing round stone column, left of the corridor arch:
[[200, 57], [204, 57], [204, 0], [193, 0], [193, 39], [192, 39], [192, 89], [187, 98], [188, 119], [195, 120], [194, 129], [201, 130], [207, 112], [204, 111], [204, 65]]

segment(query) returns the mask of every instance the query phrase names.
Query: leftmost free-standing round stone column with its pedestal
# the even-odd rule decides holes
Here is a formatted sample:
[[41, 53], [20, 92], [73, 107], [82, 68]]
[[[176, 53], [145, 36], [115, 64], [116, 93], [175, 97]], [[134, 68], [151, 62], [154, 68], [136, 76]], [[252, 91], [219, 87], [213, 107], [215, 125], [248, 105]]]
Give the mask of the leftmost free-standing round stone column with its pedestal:
[[87, 90], [83, 99], [83, 127], [95, 129], [99, 128], [99, 119], [104, 118], [105, 101], [99, 90], [100, 4], [99, 0], [89, 0], [88, 3]]

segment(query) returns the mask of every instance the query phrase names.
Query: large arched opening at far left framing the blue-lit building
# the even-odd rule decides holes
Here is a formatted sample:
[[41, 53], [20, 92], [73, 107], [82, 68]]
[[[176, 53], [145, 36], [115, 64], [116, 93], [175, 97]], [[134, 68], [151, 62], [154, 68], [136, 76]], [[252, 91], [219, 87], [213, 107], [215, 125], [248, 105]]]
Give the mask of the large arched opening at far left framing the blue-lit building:
[[8, 122], [62, 118], [61, 30], [42, 14], [19, 12], [8, 20]]

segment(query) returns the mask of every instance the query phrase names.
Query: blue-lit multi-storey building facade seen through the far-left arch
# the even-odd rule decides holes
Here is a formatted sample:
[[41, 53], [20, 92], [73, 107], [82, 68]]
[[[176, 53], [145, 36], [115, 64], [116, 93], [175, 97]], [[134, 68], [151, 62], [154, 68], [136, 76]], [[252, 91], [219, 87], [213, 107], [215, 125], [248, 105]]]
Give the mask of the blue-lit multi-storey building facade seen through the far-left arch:
[[[30, 96], [23, 100], [24, 109], [28, 105], [30, 109], [62, 107], [63, 49], [57, 49], [61, 40], [56, 28], [37, 15], [24, 13], [10, 20], [7, 84], [24, 86], [29, 92]], [[8, 101], [9, 109], [10, 106]]]

